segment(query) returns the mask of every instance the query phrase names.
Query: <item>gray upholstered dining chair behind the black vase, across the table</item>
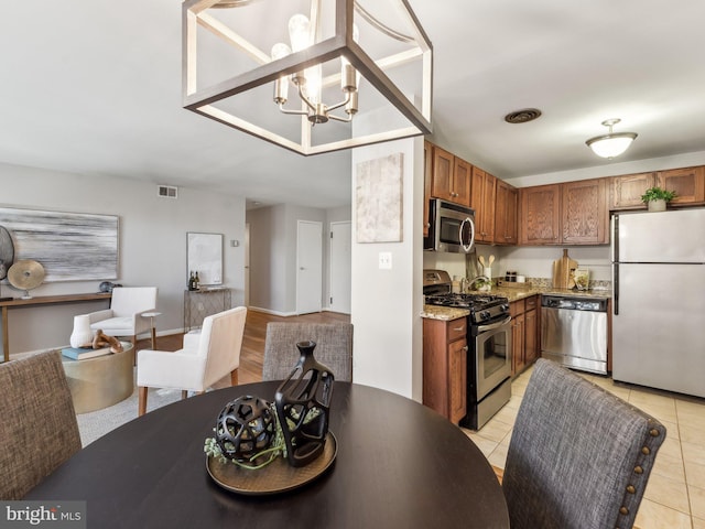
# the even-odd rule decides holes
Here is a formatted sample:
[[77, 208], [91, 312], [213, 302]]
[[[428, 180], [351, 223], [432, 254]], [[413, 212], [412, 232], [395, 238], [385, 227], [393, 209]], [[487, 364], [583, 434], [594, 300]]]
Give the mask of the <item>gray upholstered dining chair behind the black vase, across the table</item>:
[[316, 343], [316, 360], [330, 368], [336, 380], [352, 381], [352, 324], [271, 322], [264, 338], [263, 380], [286, 378], [299, 360], [299, 342]]

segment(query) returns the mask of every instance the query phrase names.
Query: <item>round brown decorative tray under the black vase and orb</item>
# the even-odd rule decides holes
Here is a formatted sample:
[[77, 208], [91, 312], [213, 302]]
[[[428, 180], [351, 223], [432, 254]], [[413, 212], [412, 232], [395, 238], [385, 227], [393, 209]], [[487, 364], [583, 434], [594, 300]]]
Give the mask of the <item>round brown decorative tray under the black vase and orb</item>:
[[263, 468], [251, 471], [234, 463], [220, 463], [208, 455], [206, 468], [213, 481], [226, 490], [262, 496], [291, 490], [312, 482], [330, 466], [337, 453], [338, 442], [328, 432], [323, 454], [306, 466], [291, 466], [286, 457], [279, 456]]

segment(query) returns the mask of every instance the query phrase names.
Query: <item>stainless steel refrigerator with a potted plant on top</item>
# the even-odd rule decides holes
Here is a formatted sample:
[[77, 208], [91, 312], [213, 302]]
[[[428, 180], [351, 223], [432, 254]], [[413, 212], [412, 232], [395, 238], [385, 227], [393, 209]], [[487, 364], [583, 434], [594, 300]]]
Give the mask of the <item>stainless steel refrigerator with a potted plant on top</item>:
[[611, 219], [612, 378], [705, 397], [705, 209]]

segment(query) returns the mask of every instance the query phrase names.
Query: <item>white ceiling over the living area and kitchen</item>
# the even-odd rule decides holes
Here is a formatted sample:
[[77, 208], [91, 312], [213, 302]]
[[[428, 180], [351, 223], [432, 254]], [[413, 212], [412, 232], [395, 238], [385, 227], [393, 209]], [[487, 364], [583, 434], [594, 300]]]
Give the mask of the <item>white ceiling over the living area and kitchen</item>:
[[[409, 0], [434, 45], [433, 140], [501, 179], [705, 151], [705, 2]], [[200, 186], [263, 204], [350, 202], [349, 152], [304, 158], [184, 110], [178, 0], [8, 2], [0, 162]], [[506, 114], [535, 107], [533, 122]]]

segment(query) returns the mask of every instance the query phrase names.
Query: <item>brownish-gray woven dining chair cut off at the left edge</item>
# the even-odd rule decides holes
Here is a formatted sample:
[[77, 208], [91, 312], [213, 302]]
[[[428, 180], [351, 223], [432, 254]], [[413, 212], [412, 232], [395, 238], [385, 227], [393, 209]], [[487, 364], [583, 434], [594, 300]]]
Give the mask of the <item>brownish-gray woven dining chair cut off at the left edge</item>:
[[57, 350], [0, 364], [0, 499], [22, 499], [80, 450]]

